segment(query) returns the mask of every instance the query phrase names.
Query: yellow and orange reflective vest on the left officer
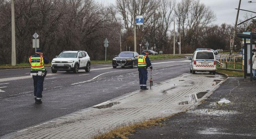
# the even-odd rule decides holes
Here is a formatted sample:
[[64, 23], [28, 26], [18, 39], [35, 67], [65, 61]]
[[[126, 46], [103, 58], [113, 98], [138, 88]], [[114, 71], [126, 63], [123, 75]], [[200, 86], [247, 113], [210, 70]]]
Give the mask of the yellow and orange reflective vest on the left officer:
[[31, 70], [45, 70], [43, 56], [40, 57], [29, 57], [29, 63], [31, 65]]

